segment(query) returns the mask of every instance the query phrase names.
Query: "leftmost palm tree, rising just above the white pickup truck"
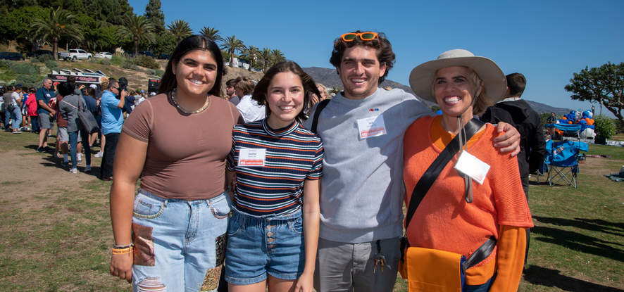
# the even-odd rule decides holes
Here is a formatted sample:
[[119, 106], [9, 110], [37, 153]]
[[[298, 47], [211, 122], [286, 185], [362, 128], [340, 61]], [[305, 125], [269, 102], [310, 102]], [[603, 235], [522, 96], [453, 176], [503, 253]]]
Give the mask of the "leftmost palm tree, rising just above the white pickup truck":
[[32, 32], [51, 43], [54, 59], [58, 60], [58, 40], [61, 37], [82, 42], [82, 32], [75, 22], [75, 15], [58, 7], [56, 10], [50, 10], [49, 15], [44, 18], [32, 20]]

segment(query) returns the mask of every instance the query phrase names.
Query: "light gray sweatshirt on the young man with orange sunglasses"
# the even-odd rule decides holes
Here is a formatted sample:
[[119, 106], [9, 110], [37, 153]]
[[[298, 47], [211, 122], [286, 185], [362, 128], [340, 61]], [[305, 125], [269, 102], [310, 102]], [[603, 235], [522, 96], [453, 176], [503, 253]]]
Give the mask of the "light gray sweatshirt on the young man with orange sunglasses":
[[[339, 94], [327, 104], [317, 126], [325, 149], [321, 238], [362, 243], [402, 236], [403, 135], [416, 118], [430, 114], [425, 104], [401, 89], [377, 89], [360, 100]], [[382, 118], [386, 134], [361, 138], [364, 128], [358, 128], [358, 120], [375, 116]], [[306, 128], [311, 124], [312, 118]]]

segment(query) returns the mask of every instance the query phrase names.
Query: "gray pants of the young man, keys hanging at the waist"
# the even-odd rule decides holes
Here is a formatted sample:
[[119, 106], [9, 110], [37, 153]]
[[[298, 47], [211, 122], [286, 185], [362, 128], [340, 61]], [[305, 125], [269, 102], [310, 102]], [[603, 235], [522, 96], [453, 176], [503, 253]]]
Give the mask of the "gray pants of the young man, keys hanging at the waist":
[[318, 239], [314, 288], [325, 291], [392, 291], [397, 281], [399, 237], [379, 241], [386, 267], [375, 268], [377, 241], [342, 243]]

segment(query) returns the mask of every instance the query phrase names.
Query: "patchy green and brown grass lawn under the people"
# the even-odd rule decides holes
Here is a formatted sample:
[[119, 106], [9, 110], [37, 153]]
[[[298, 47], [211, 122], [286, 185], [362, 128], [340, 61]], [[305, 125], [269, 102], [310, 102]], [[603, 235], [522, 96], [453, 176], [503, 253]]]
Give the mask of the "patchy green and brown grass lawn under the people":
[[[130, 291], [108, 274], [110, 182], [69, 174], [35, 153], [36, 140], [0, 132], [0, 291]], [[578, 189], [531, 179], [535, 228], [519, 291], [624, 291], [624, 183], [604, 177], [624, 165], [624, 148], [588, 154], [611, 158], [587, 158]]]

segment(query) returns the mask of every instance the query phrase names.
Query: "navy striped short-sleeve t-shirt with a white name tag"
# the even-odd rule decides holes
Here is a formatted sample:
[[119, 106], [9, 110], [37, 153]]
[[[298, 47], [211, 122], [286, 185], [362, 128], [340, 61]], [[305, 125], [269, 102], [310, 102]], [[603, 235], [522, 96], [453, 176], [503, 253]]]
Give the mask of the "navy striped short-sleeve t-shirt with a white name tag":
[[[241, 166], [244, 148], [265, 149], [264, 165]], [[237, 210], [254, 216], [287, 215], [301, 209], [305, 180], [323, 175], [323, 142], [296, 121], [282, 129], [270, 129], [266, 119], [237, 125], [227, 169], [236, 171]]]

